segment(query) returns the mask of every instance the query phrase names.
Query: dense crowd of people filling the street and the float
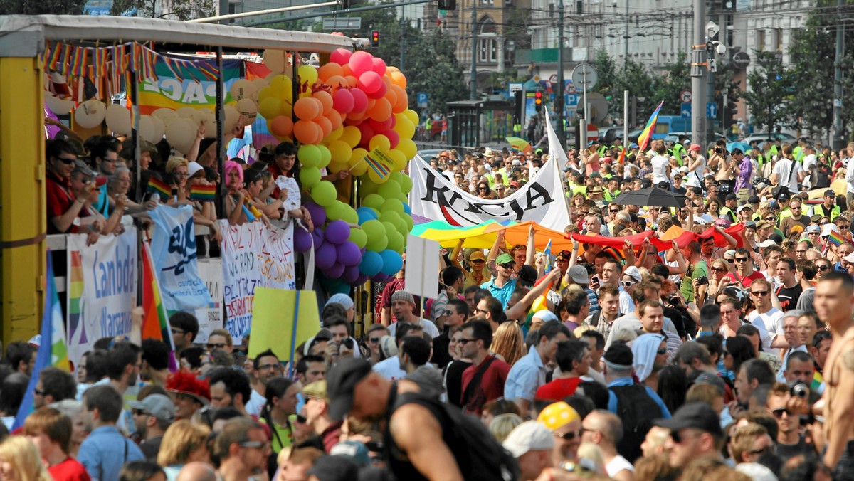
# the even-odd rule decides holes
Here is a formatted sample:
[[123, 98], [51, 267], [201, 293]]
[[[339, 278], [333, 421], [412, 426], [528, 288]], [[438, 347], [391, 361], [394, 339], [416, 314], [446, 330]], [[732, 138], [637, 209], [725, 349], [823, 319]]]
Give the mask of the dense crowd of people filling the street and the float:
[[[98, 340], [73, 372], [35, 372], [38, 337], [7, 343], [0, 414], [11, 432], [0, 441], [0, 476], [854, 478], [854, 168], [848, 196], [829, 188], [848, 182], [854, 145], [834, 154], [767, 144], [570, 149], [560, 166], [564, 232], [587, 242], [549, 258], [536, 249], [536, 227], [522, 244], [503, 233], [488, 250], [460, 241], [437, 260], [436, 299], [407, 292], [401, 269], [377, 290], [376, 321], [359, 328], [353, 299], [331, 296], [322, 329], [293, 360], [272, 350], [249, 358], [251, 330], [239, 339], [214, 330], [197, 343], [198, 321], [178, 313], [169, 322], [179, 368], [170, 372], [167, 343], [141, 338], [141, 309], [131, 335]], [[174, 195], [136, 198], [127, 144], [52, 140], [49, 228], [110, 235], [164, 201], [192, 203], [212, 249], [215, 220], [248, 221], [244, 203], [260, 221], [311, 226], [274, 182], [298, 161], [292, 144], [251, 165], [226, 162], [224, 213], [193, 201], [188, 185], [220, 181], [215, 149], [201, 131], [186, 158], [143, 146], [142, 181], [161, 179]], [[548, 161], [479, 149], [442, 152], [430, 165], [496, 198]], [[684, 195], [684, 205], [615, 202], [652, 185]], [[693, 238], [667, 249], [590, 241], [670, 238], [674, 228]], [[28, 394], [32, 413], [15, 426]]]

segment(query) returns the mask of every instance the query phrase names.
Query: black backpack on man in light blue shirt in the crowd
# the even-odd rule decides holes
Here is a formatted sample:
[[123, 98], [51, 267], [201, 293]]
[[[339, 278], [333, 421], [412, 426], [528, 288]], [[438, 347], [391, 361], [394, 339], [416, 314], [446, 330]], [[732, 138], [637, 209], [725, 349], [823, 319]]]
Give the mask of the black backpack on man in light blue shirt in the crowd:
[[634, 463], [640, 458], [640, 443], [652, 427], [652, 420], [661, 418], [663, 413], [640, 384], [612, 386], [608, 390], [617, 396], [617, 416], [623, 420], [623, 439], [617, 444], [617, 452]]

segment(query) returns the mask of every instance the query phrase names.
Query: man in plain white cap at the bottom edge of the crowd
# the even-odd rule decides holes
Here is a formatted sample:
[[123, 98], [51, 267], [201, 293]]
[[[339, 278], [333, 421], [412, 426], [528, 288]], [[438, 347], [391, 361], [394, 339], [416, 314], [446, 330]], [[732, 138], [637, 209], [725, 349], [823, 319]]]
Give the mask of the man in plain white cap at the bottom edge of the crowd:
[[513, 428], [503, 446], [519, 464], [519, 481], [533, 481], [543, 470], [553, 466], [554, 437], [545, 425], [535, 420]]

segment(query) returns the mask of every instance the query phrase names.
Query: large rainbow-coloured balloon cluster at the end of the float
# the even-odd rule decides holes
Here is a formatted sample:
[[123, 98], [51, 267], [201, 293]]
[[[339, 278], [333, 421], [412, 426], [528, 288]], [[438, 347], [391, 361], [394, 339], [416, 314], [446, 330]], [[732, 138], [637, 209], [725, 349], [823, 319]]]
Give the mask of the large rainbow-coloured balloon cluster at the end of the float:
[[[297, 229], [294, 248], [306, 252], [313, 241], [315, 264], [332, 291], [389, 279], [403, 266], [412, 230], [412, 180], [400, 172], [417, 150], [412, 137], [418, 114], [409, 109], [407, 79], [365, 51], [336, 50], [325, 65], [303, 65], [297, 72], [295, 102], [293, 80], [280, 74], [258, 94], [258, 114], [272, 135], [301, 144], [300, 180], [312, 199], [304, 205], [315, 229]], [[369, 167], [366, 156], [373, 150], [382, 152], [390, 175]], [[339, 200], [336, 186], [321, 180], [322, 168], [358, 176], [363, 207]]]

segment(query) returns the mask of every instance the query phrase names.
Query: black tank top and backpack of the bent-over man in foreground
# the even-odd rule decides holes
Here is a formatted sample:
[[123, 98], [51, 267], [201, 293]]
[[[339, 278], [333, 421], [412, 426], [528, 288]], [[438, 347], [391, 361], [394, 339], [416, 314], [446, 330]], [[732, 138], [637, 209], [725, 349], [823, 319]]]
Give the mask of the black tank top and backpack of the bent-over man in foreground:
[[[480, 419], [464, 414], [455, 406], [418, 393], [407, 392], [396, 395], [396, 386], [392, 389], [392, 399], [389, 399], [389, 402], [392, 403], [389, 419], [395, 410], [404, 404], [415, 403], [430, 410], [439, 425], [442, 426], [442, 437], [445, 439], [448, 437], [455, 438], [457, 449], [454, 449], [453, 446], [448, 448], [451, 449], [454, 458], [457, 460], [459, 471], [462, 472], [463, 478], [466, 480], [515, 481], [519, 478], [521, 472], [516, 459], [498, 441], [495, 441]], [[389, 463], [389, 468], [394, 472], [395, 460], [401, 460], [405, 454], [400, 451], [395, 452], [396, 444], [391, 438], [389, 424], [386, 423], [386, 439], [383, 446], [386, 450], [386, 462]], [[401, 479], [401, 474], [405, 473], [395, 472], [395, 476], [399, 479]], [[407, 477], [407, 479], [409, 478], [412, 476]]]

